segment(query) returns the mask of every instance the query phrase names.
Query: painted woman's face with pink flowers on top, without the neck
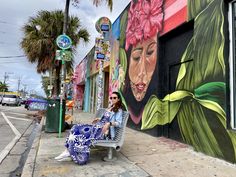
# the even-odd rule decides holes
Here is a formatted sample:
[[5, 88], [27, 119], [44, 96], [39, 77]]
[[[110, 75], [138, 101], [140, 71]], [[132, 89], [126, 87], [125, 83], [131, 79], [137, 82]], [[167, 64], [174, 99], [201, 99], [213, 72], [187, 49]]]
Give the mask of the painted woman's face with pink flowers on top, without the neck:
[[157, 62], [157, 36], [162, 30], [163, 0], [131, 1], [125, 49], [129, 51], [128, 74], [135, 99], [144, 99]]

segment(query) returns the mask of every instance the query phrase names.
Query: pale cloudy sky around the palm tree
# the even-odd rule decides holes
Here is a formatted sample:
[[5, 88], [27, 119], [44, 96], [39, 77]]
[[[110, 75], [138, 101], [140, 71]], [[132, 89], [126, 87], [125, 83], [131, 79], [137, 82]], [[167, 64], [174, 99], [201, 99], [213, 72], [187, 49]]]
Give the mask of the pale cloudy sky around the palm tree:
[[[81, 0], [79, 7], [71, 3], [69, 15], [75, 15], [81, 20], [91, 37], [89, 44], [81, 43], [77, 49], [75, 65], [84, 58], [94, 45], [95, 37], [99, 36], [95, 29], [95, 22], [102, 16], [107, 16], [113, 22], [130, 0], [113, 0], [113, 11], [110, 12], [104, 4], [95, 7], [92, 0]], [[64, 10], [65, 0], [0, 0], [0, 81], [4, 75], [11, 91], [16, 91], [20, 80], [20, 89], [24, 86], [28, 92], [44, 95], [41, 88], [41, 75], [36, 72], [36, 65], [27, 61], [25, 57], [2, 58], [24, 55], [19, 47], [22, 39], [22, 26], [29, 17], [33, 17], [40, 10]]]

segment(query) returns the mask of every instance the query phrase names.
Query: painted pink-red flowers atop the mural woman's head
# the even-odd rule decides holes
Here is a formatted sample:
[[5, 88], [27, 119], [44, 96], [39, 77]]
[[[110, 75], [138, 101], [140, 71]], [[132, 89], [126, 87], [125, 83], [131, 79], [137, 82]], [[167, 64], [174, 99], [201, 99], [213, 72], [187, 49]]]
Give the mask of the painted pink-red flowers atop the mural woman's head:
[[163, 0], [138, 0], [131, 2], [128, 13], [125, 49], [146, 40], [162, 29]]

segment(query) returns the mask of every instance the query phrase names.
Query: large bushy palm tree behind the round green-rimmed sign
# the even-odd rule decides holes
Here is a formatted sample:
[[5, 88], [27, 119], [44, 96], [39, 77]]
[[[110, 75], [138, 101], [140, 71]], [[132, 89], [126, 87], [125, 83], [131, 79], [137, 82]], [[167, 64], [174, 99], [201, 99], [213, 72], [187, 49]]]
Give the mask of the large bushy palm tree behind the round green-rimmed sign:
[[[58, 95], [60, 84], [61, 62], [55, 60], [57, 46], [56, 38], [63, 31], [64, 13], [57, 11], [39, 11], [35, 17], [31, 17], [27, 24], [23, 26], [24, 37], [21, 41], [21, 47], [24, 50], [29, 62], [37, 64], [37, 72], [45, 73], [53, 70], [54, 73], [54, 94]], [[67, 35], [73, 41], [72, 53], [80, 40], [89, 41], [89, 33], [81, 27], [80, 20], [77, 17], [68, 18]], [[67, 70], [73, 69], [73, 58], [71, 62], [66, 62]]]

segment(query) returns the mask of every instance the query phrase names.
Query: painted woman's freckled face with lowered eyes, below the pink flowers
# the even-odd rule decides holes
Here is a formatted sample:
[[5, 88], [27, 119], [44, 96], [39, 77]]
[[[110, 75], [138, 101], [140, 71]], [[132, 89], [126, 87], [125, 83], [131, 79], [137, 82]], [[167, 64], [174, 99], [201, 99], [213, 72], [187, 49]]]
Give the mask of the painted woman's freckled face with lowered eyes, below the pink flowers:
[[152, 79], [157, 61], [156, 37], [139, 42], [131, 50], [129, 78], [132, 93], [137, 101], [141, 101]]

